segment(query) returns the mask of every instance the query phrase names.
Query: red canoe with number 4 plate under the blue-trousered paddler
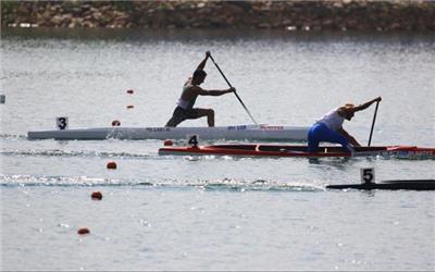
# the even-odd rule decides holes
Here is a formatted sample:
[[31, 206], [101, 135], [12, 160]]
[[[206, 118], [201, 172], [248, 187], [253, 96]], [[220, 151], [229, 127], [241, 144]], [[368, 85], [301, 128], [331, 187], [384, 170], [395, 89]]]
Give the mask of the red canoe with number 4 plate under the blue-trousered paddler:
[[[296, 158], [322, 158], [322, 157], [351, 157], [339, 146], [322, 146], [319, 152], [307, 152], [307, 146], [291, 145], [211, 145], [211, 146], [165, 146], [159, 149], [159, 154], [176, 156], [245, 156], [245, 157], [296, 157]], [[357, 147], [355, 154], [361, 156], [397, 156], [405, 158], [435, 158], [435, 148], [415, 146], [376, 146]]]

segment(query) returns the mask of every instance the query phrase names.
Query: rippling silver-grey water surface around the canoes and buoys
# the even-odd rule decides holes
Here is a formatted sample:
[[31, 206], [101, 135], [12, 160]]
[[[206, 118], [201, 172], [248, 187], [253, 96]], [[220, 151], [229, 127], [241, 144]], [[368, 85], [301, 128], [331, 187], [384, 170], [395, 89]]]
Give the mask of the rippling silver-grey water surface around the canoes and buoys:
[[[14, 29], [1, 42], [2, 270], [435, 269], [432, 191], [325, 190], [361, 168], [434, 178], [433, 160], [159, 157], [160, 140], [26, 138], [57, 116], [161, 126], [211, 50], [259, 123], [309, 125], [382, 96], [372, 145], [433, 147], [433, 34]], [[204, 88], [227, 88], [206, 71]], [[216, 125], [250, 123], [233, 95], [197, 104]], [[373, 111], [345, 124], [363, 145]]]

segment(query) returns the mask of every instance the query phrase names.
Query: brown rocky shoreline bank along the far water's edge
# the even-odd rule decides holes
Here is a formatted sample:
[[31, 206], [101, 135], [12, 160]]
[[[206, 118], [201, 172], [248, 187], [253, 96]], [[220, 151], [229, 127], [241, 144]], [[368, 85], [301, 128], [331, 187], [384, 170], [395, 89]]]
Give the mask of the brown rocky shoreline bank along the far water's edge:
[[2, 27], [435, 30], [435, 1], [7, 1]]

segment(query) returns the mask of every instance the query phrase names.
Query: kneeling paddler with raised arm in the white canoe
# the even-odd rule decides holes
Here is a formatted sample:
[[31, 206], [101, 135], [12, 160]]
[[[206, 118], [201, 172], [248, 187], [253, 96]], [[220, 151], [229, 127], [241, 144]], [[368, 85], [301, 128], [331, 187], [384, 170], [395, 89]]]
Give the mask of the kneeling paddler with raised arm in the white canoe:
[[175, 127], [187, 119], [200, 119], [207, 116], [209, 126], [214, 126], [214, 111], [212, 109], [194, 108], [198, 96], [222, 96], [233, 92], [234, 87], [224, 90], [206, 90], [199, 87], [206, 79], [207, 73], [203, 71], [207, 60], [210, 58], [210, 51], [206, 52], [206, 59], [199, 63], [194, 76], [184, 84], [182, 96], [177, 101], [177, 107], [165, 126]]

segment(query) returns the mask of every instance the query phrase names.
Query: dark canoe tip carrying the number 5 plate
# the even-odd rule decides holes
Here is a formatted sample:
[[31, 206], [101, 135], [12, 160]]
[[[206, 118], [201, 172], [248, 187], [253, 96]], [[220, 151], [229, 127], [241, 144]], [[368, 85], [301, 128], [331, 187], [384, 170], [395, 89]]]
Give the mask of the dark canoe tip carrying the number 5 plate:
[[338, 184], [327, 185], [327, 189], [409, 189], [409, 190], [435, 190], [435, 180], [398, 180], [384, 181], [382, 183]]

